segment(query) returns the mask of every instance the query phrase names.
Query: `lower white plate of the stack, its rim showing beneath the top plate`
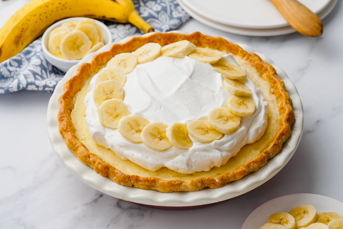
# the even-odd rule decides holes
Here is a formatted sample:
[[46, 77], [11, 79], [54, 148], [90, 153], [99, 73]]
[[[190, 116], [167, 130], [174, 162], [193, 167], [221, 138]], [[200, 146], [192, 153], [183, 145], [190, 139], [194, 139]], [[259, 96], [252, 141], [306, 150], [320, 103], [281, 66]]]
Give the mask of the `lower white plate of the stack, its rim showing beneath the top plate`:
[[[177, 0], [179, 5], [190, 15], [192, 18], [196, 19], [197, 21], [208, 25], [210, 27], [216, 28], [218, 30], [222, 30], [229, 33], [239, 34], [239, 35], [246, 35], [246, 36], [277, 36], [277, 35], [284, 35], [289, 33], [296, 32], [294, 28], [291, 26], [285, 26], [280, 28], [265, 28], [265, 29], [253, 29], [253, 28], [241, 28], [235, 27], [230, 25], [225, 25], [222, 23], [218, 23], [204, 16], [198, 14], [194, 10], [187, 7], [184, 3], [185, 0]], [[324, 8], [321, 12], [318, 13], [318, 16], [321, 20], [323, 20], [329, 13], [334, 9], [338, 0], [331, 0], [326, 8]]]

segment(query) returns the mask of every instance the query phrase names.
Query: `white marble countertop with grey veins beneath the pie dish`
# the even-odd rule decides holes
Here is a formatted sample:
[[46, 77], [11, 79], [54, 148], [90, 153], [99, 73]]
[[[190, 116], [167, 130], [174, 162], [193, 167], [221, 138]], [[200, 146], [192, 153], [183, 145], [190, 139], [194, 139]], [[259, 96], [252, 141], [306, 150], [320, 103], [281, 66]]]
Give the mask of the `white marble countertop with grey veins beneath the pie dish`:
[[[0, 27], [26, 2], [0, 1]], [[0, 228], [239, 229], [251, 211], [278, 196], [314, 193], [343, 202], [341, 1], [323, 23], [319, 38], [239, 36], [193, 19], [180, 28], [227, 36], [270, 57], [295, 83], [305, 114], [300, 145], [278, 174], [255, 190], [201, 209], [151, 209], [96, 191], [72, 175], [50, 146], [50, 95], [0, 94]]]

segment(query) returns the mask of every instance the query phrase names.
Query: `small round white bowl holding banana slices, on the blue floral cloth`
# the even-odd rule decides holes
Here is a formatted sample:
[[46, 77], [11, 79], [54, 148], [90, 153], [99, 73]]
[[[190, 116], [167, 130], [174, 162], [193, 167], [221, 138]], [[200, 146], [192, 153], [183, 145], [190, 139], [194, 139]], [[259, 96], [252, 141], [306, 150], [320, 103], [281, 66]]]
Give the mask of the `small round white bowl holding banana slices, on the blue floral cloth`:
[[[45, 59], [52, 65], [54, 65], [56, 68], [60, 69], [61, 71], [67, 72], [72, 66], [76, 65], [80, 60], [65, 60], [58, 58], [54, 55], [52, 55], [48, 51], [48, 41], [49, 41], [49, 35], [54, 28], [57, 28], [61, 26], [64, 22], [68, 21], [74, 21], [74, 20], [88, 20], [89, 18], [68, 18], [64, 19], [62, 21], [56, 22], [55, 24], [51, 25], [43, 34], [42, 37], [42, 50], [43, 50], [43, 56]], [[98, 24], [101, 28], [101, 32], [103, 33], [105, 45], [112, 42], [112, 33], [109, 30], [109, 28], [102, 22], [99, 22], [95, 20], [96, 24]]]

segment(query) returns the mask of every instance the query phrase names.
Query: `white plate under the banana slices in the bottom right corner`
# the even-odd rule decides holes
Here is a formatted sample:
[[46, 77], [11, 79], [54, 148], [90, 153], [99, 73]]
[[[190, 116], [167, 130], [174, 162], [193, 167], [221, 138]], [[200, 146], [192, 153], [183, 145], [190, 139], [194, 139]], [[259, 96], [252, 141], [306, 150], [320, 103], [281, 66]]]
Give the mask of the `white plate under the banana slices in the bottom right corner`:
[[289, 212], [292, 208], [310, 204], [317, 209], [317, 213], [333, 211], [343, 216], [343, 203], [327, 196], [316, 194], [297, 193], [280, 196], [265, 202], [248, 216], [241, 229], [259, 229], [267, 223], [269, 216], [283, 211]]

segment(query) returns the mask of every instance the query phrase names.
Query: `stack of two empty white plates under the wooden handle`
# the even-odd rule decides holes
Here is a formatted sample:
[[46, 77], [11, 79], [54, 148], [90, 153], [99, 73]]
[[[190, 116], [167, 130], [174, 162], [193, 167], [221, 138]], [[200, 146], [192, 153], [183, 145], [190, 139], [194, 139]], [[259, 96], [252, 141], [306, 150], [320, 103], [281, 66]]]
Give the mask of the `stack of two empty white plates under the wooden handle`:
[[[225, 32], [248, 36], [276, 36], [295, 32], [269, 0], [177, 1], [194, 19]], [[333, 10], [337, 1], [299, 0], [320, 19]]]

